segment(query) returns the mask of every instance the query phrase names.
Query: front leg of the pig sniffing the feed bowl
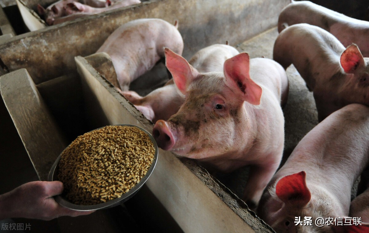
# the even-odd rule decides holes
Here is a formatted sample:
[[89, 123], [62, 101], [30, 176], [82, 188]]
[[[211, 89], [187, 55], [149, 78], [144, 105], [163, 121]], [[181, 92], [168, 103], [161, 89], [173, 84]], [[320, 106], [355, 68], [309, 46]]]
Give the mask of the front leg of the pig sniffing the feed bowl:
[[278, 169], [279, 164], [279, 162], [267, 163], [250, 167], [249, 179], [242, 199], [245, 200], [251, 210], [255, 210], [258, 206], [261, 195]]

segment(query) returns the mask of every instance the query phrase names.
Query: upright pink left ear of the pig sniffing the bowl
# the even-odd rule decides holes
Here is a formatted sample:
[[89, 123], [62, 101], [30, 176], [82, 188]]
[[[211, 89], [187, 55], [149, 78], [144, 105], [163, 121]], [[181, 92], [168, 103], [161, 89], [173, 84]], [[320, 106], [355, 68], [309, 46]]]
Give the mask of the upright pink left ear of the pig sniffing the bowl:
[[190, 81], [192, 81], [198, 74], [197, 70], [193, 68], [182, 56], [171, 51], [168, 48], [165, 51], [165, 65], [173, 76], [173, 80], [182, 92], [186, 94], [186, 89]]

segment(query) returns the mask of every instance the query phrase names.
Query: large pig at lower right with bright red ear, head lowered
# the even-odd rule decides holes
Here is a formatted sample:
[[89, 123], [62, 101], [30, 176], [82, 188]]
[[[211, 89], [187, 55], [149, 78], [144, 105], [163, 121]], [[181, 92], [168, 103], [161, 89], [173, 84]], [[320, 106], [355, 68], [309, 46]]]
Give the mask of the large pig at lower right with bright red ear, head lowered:
[[[348, 218], [352, 185], [368, 160], [369, 107], [346, 105], [301, 139], [269, 182], [257, 215], [277, 233], [356, 232], [356, 226], [335, 226], [334, 219]], [[311, 226], [299, 224], [305, 217]], [[318, 227], [318, 218], [333, 223]]]

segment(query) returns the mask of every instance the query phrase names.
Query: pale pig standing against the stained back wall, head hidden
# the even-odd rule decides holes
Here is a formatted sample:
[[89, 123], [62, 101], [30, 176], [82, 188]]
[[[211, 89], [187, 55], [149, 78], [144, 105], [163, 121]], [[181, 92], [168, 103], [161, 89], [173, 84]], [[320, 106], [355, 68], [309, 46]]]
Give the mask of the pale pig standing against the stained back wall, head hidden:
[[183, 52], [183, 39], [178, 24], [158, 18], [132, 20], [116, 29], [97, 50], [106, 52], [117, 73], [120, 91], [128, 91], [130, 83], [164, 58], [164, 48]]

